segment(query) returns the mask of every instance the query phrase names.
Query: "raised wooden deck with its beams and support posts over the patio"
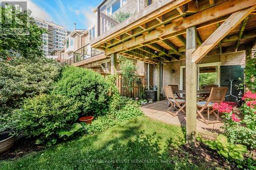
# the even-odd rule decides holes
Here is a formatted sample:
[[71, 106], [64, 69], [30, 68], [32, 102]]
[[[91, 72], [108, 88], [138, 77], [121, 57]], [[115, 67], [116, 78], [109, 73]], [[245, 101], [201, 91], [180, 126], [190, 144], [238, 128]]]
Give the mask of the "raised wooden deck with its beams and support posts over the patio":
[[[103, 50], [106, 56], [111, 56], [112, 74], [117, 72], [118, 55], [154, 65], [157, 101], [161, 99], [163, 87], [174, 84], [163, 84], [163, 67], [184, 61], [184, 88], [182, 84], [179, 88], [186, 90], [186, 121], [181, 121], [180, 125], [186, 124], [187, 143], [195, 145], [200, 125], [197, 119], [198, 68], [209, 56], [220, 58], [235, 54], [236, 58], [236, 53], [245, 51], [245, 60], [251, 57], [256, 44], [255, 8], [256, 0], [157, 1], [96, 37], [91, 44]], [[146, 114], [154, 112], [157, 105], [161, 108], [164, 104], [154, 105], [144, 108], [148, 111]], [[162, 114], [157, 117], [159, 119], [167, 116], [163, 110], [157, 110], [152, 115]], [[210, 126], [214, 128], [215, 124]]]

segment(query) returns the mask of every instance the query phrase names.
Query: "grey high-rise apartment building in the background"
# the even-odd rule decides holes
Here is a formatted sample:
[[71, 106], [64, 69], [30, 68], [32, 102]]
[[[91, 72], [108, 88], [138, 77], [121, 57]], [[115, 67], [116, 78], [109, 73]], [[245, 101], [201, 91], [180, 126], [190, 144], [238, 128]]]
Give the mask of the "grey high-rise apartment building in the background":
[[46, 42], [42, 46], [46, 56], [50, 56], [51, 52], [55, 49], [64, 48], [63, 40], [70, 34], [64, 27], [57, 25], [51, 21], [47, 21], [40, 18], [35, 18], [36, 25], [40, 28], [45, 28], [48, 33], [42, 34], [42, 40]]

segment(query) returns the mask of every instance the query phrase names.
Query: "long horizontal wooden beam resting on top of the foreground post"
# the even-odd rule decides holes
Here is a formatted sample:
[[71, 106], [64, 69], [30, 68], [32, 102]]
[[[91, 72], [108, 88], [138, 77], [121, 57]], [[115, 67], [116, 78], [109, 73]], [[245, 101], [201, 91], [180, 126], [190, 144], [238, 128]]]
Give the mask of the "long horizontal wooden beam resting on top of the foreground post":
[[[240, 11], [241, 9], [245, 9], [248, 7], [252, 7], [256, 5], [255, 0], [248, 1], [240, 1], [240, 0], [229, 0], [222, 4], [216, 5], [214, 7], [208, 8], [204, 11], [198, 12], [194, 15], [188, 16], [181, 21], [177, 21], [174, 23], [170, 23], [169, 25], [154, 30], [148, 34], [138, 36], [129, 41], [123, 42], [115, 47], [112, 47], [106, 50], [105, 54], [110, 55], [112, 53], [120, 52], [127, 48], [131, 48], [138, 44], [142, 44], [144, 42], [148, 42], [158, 37], [163, 37], [169, 34], [175, 34], [176, 32], [182, 31], [186, 28], [197, 26], [200, 23], [204, 23], [210, 20], [214, 20], [215, 18], [222, 17], [228, 15], [230, 13]], [[213, 15], [214, 14], [214, 15]], [[178, 34], [179, 35], [179, 34]], [[175, 35], [176, 36], [176, 35]]]

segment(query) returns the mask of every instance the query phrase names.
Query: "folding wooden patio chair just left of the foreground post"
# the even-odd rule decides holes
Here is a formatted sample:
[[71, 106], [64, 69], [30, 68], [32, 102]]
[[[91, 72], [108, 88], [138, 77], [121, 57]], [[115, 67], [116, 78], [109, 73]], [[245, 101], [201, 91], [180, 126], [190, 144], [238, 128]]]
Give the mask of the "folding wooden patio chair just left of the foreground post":
[[[169, 105], [168, 105], [169, 108], [168, 108], [167, 112], [172, 114], [173, 116], [177, 116], [177, 114], [181, 111], [183, 113], [185, 113], [183, 108], [186, 106], [186, 104], [185, 104], [186, 101], [183, 99], [176, 98], [174, 96], [172, 86], [164, 86], [164, 92], [165, 92], [166, 98], [168, 99], [168, 102], [169, 102]], [[169, 111], [171, 108], [177, 109], [178, 111], [176, 113], [173, 113], [173, 112]]]

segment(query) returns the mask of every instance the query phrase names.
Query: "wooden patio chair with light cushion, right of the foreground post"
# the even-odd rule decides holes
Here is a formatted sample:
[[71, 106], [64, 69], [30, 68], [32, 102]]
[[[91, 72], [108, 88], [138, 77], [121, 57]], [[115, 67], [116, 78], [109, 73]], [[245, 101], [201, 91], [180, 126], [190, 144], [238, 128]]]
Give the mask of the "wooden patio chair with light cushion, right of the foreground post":
[[[221, 102], [223, 102], [223, 100], [225, 99], [226, 92], [227, 87], [212, 87], [207, 101], [197, 102], [197, 113], [202, 118], [203, 122], [206, 125], [221, 122], [219, 120], [219, 110], [216, 113], [216, 109], [212, 108], [212, 106], [214, 105], [214, 103], [220, 104]], [[207, 120], [202, 114], [205, 111], [207, 111]], [[211, 113], [214, 113], [214, 115], [217, 117], [217, 120], [209, 120], [209, 115]]]

